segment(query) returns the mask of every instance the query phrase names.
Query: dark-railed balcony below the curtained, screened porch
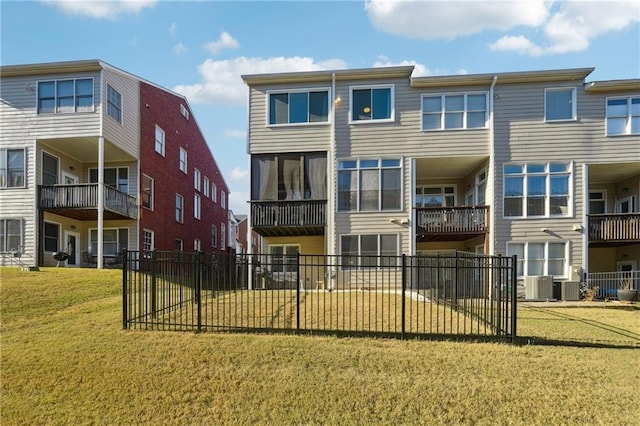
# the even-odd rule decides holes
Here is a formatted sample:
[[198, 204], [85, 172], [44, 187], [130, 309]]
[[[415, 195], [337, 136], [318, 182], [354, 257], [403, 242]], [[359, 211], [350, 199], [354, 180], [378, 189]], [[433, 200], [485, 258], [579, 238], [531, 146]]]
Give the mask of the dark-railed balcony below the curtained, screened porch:
[[326, 200], [252, 201], [251, 226], [272, 236], [324, 235]]

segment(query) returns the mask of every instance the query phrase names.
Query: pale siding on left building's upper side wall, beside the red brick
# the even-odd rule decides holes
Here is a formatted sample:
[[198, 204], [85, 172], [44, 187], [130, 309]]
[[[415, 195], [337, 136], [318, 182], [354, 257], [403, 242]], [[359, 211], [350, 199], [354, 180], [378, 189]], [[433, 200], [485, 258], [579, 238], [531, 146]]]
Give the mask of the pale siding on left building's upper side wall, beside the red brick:
[[[122, 96], [122, 123], [107, 114], [107, 84]], [[134, 158], [140, 156], [140, 90], [138, 80], [110, 69], [104, 70], [102, 108], [104, 137]]]

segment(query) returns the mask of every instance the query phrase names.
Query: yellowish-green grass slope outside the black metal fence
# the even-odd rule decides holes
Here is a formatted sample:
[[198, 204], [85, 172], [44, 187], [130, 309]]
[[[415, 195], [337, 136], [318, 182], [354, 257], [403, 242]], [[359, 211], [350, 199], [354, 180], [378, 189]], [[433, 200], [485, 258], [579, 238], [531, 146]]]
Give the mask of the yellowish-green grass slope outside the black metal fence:
[[0, 424], [640, 418], [640, 310], [523, 307], [520, 345], [123, 331], [120, 273], [0, 269]]

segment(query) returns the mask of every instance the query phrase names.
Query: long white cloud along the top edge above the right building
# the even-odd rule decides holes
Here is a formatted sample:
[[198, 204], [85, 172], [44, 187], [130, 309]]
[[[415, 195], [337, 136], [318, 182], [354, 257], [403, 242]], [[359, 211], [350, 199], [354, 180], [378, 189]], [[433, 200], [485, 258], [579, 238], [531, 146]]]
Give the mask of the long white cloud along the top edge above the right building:
[[484, 30], [536, 27], [549, 16], [545, 0], [400, 1], [369, 0], [365, 11], [375, 27], [418, 39], [454, 39]]

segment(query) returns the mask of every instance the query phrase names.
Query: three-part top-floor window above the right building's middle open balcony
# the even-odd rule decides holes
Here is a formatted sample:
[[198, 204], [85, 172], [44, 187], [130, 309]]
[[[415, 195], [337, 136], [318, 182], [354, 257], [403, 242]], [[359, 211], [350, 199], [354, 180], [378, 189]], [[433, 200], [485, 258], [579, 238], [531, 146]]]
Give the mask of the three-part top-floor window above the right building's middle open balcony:
[[483, 129], [487, 126], [486, 93], [422, 96], [422, 130]]

